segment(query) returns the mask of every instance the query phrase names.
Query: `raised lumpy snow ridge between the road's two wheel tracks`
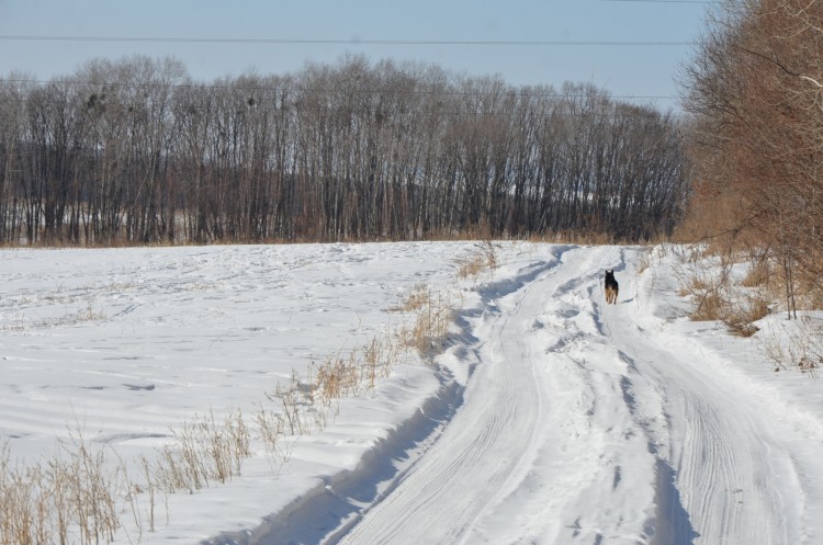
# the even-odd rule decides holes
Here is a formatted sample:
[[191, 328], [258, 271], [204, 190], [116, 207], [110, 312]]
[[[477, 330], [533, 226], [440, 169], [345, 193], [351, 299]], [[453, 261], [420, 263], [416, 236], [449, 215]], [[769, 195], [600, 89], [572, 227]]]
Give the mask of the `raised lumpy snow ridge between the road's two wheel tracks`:
[[[595, 309], [602, 269], [622, 252], [580, 252], [585, 259], [564, 263], [557, 277], [568, 280], [545, 292], [541, 317], [562, 332], [546, 348], [543, 378], [553, 407], [532, 468], [541, 489], [527, 482], [512, 495], [509, 511], [528, 511], [529, 527], [492, 543], [645, 543], [653, 531], [655, 458], [622, 391], [625, 364], [604, 339]], [[503, 520], [491, 525], [505, 527]]]

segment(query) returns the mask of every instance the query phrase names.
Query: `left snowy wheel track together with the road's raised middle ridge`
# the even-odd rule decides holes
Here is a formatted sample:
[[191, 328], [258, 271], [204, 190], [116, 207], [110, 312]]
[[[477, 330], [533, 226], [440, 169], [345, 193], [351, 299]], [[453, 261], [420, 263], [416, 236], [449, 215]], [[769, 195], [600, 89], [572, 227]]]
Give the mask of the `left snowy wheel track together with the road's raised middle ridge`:
[[556, 257], [561, 266], [520, 289], [500, 297], [485, 291], [487, 310], [472, 330], [480, 363], [463, 406], [340, 543], [647, 537], [655, 459], [620, 391], [624, 365], [616, 357], [589, 363], [584, 350], [600, 336], [591, 311], [580, 311], [591, 294], [578, 300], [577, 289], [591, 292], [599, 264], [613, 256], [575, 249]]

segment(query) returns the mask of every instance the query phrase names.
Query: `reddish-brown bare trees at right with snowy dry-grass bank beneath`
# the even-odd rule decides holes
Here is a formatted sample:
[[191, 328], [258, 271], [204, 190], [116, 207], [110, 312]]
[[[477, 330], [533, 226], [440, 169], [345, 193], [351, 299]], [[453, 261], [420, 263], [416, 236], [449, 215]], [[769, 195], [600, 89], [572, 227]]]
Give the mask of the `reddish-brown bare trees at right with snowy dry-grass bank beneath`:
[[821, 2], [717, 2], [681, 75], [694, 182], [675, 238], [711, 263], [684, 282], [692, 317], [752, 336], [783, 313], [794, 340], [766, 343], [776, 368], [823, 364], [821, 21]]

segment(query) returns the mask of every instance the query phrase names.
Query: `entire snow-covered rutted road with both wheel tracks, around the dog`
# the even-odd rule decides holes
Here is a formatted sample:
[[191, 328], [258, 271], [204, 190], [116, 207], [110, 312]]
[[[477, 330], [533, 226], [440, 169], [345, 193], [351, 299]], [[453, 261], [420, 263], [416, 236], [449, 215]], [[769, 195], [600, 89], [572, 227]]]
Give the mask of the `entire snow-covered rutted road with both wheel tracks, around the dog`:
[[[464, 389], [432, 438], [395, 452], [404, 463], [385, 492], [347, 499], [331, 484], [325, 493], [348, 506], [340, 524], [296, 541], [274, 524], [255, 541], [808, 541], [803, 501], [787, 500], [804, 492], [777, 436], [785, 430], [758, 417], [740, 384], [701, 365], [700, 347], [655, 336], [659, 280], [636, 275], [641, 251], [552, 247], [548, 260], [480, 288], [463, 341], [442, 359], [467, 364]], [[621, 293], [607, 306], [601, 276], [612, 268]]]

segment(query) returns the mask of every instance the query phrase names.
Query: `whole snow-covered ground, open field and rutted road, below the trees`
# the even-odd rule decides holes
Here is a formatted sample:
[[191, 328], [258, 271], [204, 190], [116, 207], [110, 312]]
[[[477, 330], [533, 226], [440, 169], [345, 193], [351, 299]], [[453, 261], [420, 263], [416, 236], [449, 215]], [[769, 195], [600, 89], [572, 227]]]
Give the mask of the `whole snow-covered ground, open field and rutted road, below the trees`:
[[690, 321], [685, 256], [2, 250], [0, 543], [823, 543], [796, 322]]

